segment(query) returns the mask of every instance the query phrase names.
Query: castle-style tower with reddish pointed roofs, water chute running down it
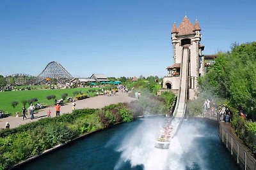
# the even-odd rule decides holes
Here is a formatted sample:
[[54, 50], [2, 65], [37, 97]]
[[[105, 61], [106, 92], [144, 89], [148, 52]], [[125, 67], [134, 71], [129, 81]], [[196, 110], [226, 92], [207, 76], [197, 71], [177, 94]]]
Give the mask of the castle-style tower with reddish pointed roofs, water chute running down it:
[[189, 99], [195, 98], [198, 89], [198, 77], [204, 75], [204, 64], [202, 62], [202, 50], [204, 46], [200, 45], [201, 29], [198, 20], [193, 25], [187, 16], [184, 17], [179, 27], [174, 23], [172, 27], [172, 44], [174, 64], [167, 67], [168, 76], [163, 79], [163, 88], [172, 89], [173, 92], [179, 90], [180, 66], [182, 65], [182, 48], [189, 46], [188, 62], [188, 91]]

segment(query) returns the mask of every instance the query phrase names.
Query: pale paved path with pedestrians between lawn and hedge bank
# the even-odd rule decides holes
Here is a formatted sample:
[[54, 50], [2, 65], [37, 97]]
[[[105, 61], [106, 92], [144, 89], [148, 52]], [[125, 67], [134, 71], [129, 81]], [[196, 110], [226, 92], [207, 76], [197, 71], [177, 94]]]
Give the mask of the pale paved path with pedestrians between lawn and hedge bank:
[[[83, 99], [81, 101], [76, 101], [76, 109], [83, 108], [103, 108], [109, 104], [115, 103], [129, 103], [134, 100], [131, 97], [128, 97], [128, 94], [117, 92], [115, 96], [96, 96], [88, 99]], [[22, 108], [20, 108], [22, 110]], [[28, 119], [22, 120], [22, 117], [7, 117], [0, 119], [0, 128], [5, 128], [6, 122], [9, 122], [10, 128], [19, 127], [19, 125], [27, 124], [29, 122], [35, 122], [40, 118], [47, 117], [47, 111], [51, 110], [51, 117], [56, 116], [56, 111], [54, 107], [44, 108], [35, 113], [35, 119], [31, 120], [30, 115], [26, 115]], [[61, 106], [60, 115], [62, 113], [71, 113], [72, 112], [72, 103], [67, 103], [65, 106]]]

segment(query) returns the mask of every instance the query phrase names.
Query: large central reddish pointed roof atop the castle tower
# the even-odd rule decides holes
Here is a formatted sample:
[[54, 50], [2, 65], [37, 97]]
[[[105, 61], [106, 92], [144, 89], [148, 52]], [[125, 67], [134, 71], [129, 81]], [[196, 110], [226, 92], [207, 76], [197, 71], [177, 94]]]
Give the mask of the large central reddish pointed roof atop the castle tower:
[[177, 36], [185, 36], [185, 35], [193, 35], [194, 32], [194, 25], [190, 22], [187, 16], [184, 17], [182, 22], [179, 25]]

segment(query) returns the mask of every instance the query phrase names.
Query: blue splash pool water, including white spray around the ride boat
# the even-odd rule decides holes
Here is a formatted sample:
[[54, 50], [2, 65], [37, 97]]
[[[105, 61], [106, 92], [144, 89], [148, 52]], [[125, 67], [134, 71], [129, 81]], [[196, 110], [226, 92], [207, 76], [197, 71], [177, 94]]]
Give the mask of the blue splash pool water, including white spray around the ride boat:
[[17, 169], [239, 169], [218, 126], [184, 120], [168, 150], [155, 148], [163, 117], [140, 118], [86, 136]]

